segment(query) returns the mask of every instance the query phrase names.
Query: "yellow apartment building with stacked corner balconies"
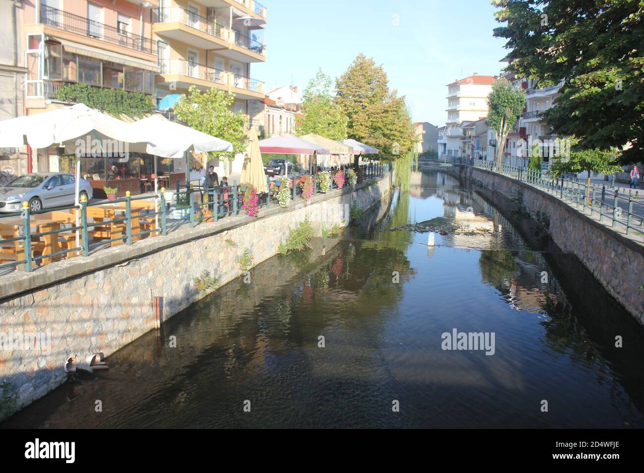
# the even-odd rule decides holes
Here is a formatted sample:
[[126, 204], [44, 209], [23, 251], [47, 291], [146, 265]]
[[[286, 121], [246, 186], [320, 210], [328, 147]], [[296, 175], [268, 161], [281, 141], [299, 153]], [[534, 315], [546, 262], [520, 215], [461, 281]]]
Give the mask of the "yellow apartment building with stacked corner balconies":
[[160, 0], [152, 9], [158, 51], [156, 100], [190, 86], [235, 95], [231, 110], [252, 120], [249, 101], [265, 98], [251, 65], [266, 60], [266, 8], [254, 0]]

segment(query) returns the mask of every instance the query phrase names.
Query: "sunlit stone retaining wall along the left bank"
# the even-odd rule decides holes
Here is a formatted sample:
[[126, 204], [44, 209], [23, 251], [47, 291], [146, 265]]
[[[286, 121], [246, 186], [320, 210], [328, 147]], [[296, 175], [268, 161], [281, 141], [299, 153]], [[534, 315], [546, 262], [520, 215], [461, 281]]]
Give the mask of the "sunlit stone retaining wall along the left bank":
[[[259, 218], [245, 215], [180, 227], [167, 236], [106, 248], [88, 257], [73, 257], [0, 277], [0, 382], [10, 396], [0, 399], [3, 411], [15, 411], [64, 382], [64, 361], [102, 351], [106, 356], [155, 328], [153, 297], [164, 297], [164, 319], [205, 297], [193, 278], [204, 270], [228, 283], [242, 274], [245, 248], [252, 266], [278, 252], [292, 228], [308, 218], [317, 235], [323, 228], [350, 221], [350, 209], [366, 209], [390, 192], [392, 173], [365, 189], [317, 194], [307, 205], [289, 209], [271, 205]], [[251, 271], [252, 278], [252, 271]], [[40, 340], [35, 335], [43, 334]], [[29, 349], [7, 349], [8, 339], [26, 335]], [[39, 346], [40, 344], [40, 346]], [[0, 392], [1, 395], [1, 392]]]

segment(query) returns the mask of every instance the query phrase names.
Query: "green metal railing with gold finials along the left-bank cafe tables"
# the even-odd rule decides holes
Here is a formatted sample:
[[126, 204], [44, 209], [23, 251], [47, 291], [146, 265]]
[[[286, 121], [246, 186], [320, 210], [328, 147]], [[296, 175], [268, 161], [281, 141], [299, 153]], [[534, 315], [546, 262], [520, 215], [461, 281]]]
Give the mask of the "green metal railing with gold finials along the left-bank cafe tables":
[[[378, 178], [383, 176], [385, 172], [388, 172], [388, 165], [379, 162], [369, 163], [361, 165], [359, 167], [360, 174], [362, 174], [363, 179]], [[341, 172], [345, 172], [345, 187], [348, 186], [346, 179], [348, 178], [349, 169], [345, 169]], [[302, 197], [302, 187], [301, 187], [301, 178], [307, 174], [292, 174], [289, 176], [280, 176], [280, 178], [287, 178], [291, 182], [292, 189], [292, 200], [303, 198]], [[316, 176], [312, 176], [314, 181], [314, 192], [319, 192], [319, 179]], [[295, 183], [293, 185], [293, 183]], [[269, 192], [260, 195], [260, 207], [270, 207], [270, 201], [272, 198], [276, 198], [276, 190], [270, 189], [270, 180], [267, 176], [267, 185], [269, 187]], [[0, 214], [0, 228], [3, 228], [3, 234], [11, 234], [12, 236], [2, 239], [0, 237], [0, 247], [5, 250], [3, 254], [8, 255], [12, 254], [12, 257], [17, 259], [20, 254], [24, 254], [24, 257], [17, 259], [17, 261], [10, 261], [8, 263], [0, 264], [0, 270], [6, 268], [13, 268], [16, 266], [23, 266], [26, 272], [31, 272], [35, 266], [38, 264], [43, 264], [44, 259], [58, 259], [59, 257], [64, 257], [68, 254], [80, 254], [83, 256], [88, 256], [91, 250], [98, 248], [99, 246], [111, 245], [117, 241], [121, 241], [124, 245], [132, 245], [135, 239], [140, 239], [145, 236], [150, 235], [162, 235], [166, 236], [169, 229], [176, 228], [181, 225], [189, 224], [191, 227], [195, 227], [198, 223], [208, 221], [212, 219], [217, 221], [220, 218], [226, 216], [237, 216], [242, 208], [242, 196], [243, 192], [241, 185], [238, 185], [236, 182], [233, 182], [230, 186], [217, 186], [209, 189], [188, 187], [185, 190], [180, 190], [176, 193], [177, 205], [176, 210], [184, 210], [182, 212], [184, 216], [182, 218], [171, 218], [170, 222], [168, 221], [168, 210], [167, 203], [165, 198], [164, 188], [160, 189], [160, 192], [155, 196], [137, 196], [131, 197], [129, 192], [126, 192], [124, 198], [118, 198], [113, 201], [102, 200], [95, 203], [88, 203], [84, 200], [84, 196], [81, 199], [81, 202], [78, 206], [64, 206], [64, 207], [53, 207], [38, 211], [32, 211], [29, 209], [28, 204], [23, 202], [22, 212], [12, 212], [6, 214]], [[331, 189], [337, 189], [337, 183], [332, 179]], [[196, 199], [195, 194], [199, 192], [201, 199]], [[212, 200], [204, 199], [204, 196], [211, 196]], [[148, 200], [154, 203], [154, 209], [140, 209], [138, 214], [133, 214], [132, 203], [139, 200]], [[92, 208], [100, 208], [105, 205], [122, 205], [121, 209], [109, 209], [114, 212], [113, 218], [99, 217], [96, 216], [94, 212], [90, 212]], [[150, 206], [152, 207], [152, 206]], [[158, 210], [156, 210], [158, 209]], [[39, 214], [48, 214], [53, 211], [67, 211], [69, 216], [66, 218], [66, 221], [62, 222], [61, 228], [55, 230], [48, 230], [46, 232], [32, 232], [32, 227], [39, 227], [37, 221], [33, 220], [34, 216]], [[78, 225], [75, 223], [75, 213], [78, 212]], [[117, 212], [121, 213], [122, 216], [118, 215]], [[145, 213], [144, 213], [145, 212]], [[102, 218], [102, 220], [99, 220]], [[4, 225], [6, 221], [13, 219], [12, 223]], [[90, 221], [91, 219], [91, 221]], [[158, 225], [150, 225], [149, 230], [144, 230], [140, 223], [142, 220], [149, 221], [150, 219], [155, 219], [155, 222], [158, 220]], [[16, 220], [19, 220], [19, 225]], [[133, 222], [138, 220], [138, 228], [140, 230], [134, 231]], [[109, 237], [101, 237], [97, 241], [91, 241], [90, 243], [90, 234], [94, 232], [97, 227], [101, 227], [100, 230], [104, 232], [109, 232]], [[107, 230], [109, 228], [109, 230]], [[67, 234], [68, 239], [66, 242], [75, 241], [71, 236], [75, 233], [79, 233], [79, 245], [69, 245], [66, 243], [66, 248], [62, 248], [57, 252], [51, 254], [40, 254], [33, 255], [33, 245], [32, 243], [37, 241], [37, 245], [43, 246], [40, 239], [47, 236], [54, 235], [58, 240], [61, 237], [61, 234]], [[116, 236], [113, 236], [113, 233]], [[0, 260], [3, 259], [2, 254], [0, 254]]]

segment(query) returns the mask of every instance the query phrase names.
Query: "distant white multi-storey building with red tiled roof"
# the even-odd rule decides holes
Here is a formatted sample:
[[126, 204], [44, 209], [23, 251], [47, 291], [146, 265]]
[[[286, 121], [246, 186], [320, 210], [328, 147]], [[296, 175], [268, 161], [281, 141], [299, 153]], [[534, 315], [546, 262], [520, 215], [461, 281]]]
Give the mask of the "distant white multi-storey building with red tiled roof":
[[462, 156], [463, 127], [488, 115], [488, 94], [497, 77], [474, 73], [448, 84], [444, 153]]

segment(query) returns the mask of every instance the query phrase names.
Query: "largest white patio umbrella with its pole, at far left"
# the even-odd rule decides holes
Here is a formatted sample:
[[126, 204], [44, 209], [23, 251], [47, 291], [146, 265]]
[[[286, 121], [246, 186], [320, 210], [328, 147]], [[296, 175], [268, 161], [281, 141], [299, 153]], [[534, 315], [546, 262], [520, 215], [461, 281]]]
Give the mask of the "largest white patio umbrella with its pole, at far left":
[[[77, 154], [79, 148], [77, 141], [81, 140], [86, 153], [91, 153], [91, 140], [99, 140], [98, 145], [102, 149], [106, 139], [117, 140], [128, 146], [142, 140], [140, 135], [131, 131], [125, 122], [91, 109], [85, 104], [75, 104], [71, 107], [0, 122], [0, 147], [30, 145], [37, 150], [58, 144], [64, 146], [67, 153]], [[123, 147], [117, 146], [117, 148]], [[80, 178], [81, 160], [79, 159], [76, 163], [75, 205], [79, 205]], [[76, 212], [76, 227], [78, 226], [79, 212]], [[78, 230], [76, 230], [76, 246], [80, 246]]]

